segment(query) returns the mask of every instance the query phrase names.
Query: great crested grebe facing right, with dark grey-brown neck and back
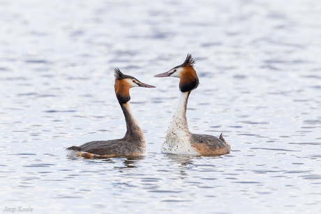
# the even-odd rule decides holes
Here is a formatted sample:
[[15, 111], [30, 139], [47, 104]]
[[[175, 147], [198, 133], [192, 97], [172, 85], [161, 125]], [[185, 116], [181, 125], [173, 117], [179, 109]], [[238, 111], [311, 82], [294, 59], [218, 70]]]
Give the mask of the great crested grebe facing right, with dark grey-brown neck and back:
[[66, 151], [68, 151], [67, 156], [95, 158], [144, 155], [146, 142], [142, 130], [130, 109], [129, 89], [138, 86], [155, 88], [155, 86], [144, 84], [135, 77], [124, 75], [119, 68], [114, 69], [114, 77], [116, 78], [115, 93], [126, 120], [126, 135], [121, 139], [94, 141], [81, 146], [71, 146], [66, 148]]

